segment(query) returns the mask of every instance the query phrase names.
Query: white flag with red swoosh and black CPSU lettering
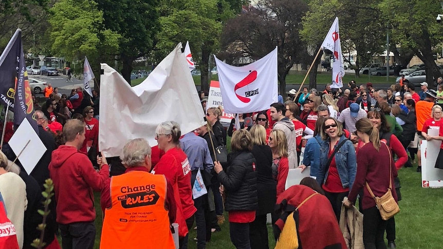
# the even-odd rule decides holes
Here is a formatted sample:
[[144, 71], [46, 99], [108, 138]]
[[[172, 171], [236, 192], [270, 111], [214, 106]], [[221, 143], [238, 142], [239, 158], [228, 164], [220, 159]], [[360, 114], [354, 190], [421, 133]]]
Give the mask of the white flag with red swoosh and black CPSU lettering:
[[277, 48], [262, 59], [242, 67], [230, 66], [215, 56], [223, 107], [227, 113], [269, 109], [278, 102]]

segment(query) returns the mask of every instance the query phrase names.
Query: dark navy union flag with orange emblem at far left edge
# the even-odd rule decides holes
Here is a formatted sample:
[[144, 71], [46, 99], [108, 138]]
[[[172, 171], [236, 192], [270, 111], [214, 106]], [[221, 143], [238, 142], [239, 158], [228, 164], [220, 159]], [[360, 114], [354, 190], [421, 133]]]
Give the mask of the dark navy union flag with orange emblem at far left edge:
[[[22, 30], [17, 29], [0, 56], [0, 98], [14, 112], [14, 124], [27, 119], [39, 133], [34, 117], [31, 88], [22, 47]], [[12, 101], [14, 100], [14, 101]], [[12, 103], [13, 102], [13, 103]]]

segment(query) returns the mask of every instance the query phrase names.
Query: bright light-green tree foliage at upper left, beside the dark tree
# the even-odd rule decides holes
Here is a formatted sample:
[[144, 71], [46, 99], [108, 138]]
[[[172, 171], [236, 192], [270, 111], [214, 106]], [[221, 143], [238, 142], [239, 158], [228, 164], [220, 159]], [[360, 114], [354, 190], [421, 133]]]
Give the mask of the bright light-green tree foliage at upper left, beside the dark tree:
[[[61, 0], [50, 9], [50, 37], [54, 55], [68, 61], [82, 60], [85, 55], [94, 56], [105, 47], [107, 53], [118, 49], [120, 34], [107, 29], [97, 30], [103, 22], [103, 14], [97, 4], [87, 0]], [[100, 39], [99, 37], [102, 37]]]

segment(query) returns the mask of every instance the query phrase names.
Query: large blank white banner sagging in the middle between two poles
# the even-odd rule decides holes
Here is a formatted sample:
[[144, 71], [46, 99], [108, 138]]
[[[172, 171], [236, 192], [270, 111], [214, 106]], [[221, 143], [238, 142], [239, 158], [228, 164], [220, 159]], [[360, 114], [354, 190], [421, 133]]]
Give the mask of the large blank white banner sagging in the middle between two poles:
[[107, 64], [101, 69], [99, 148], [106, 157], [120, 156], [130, 139], [157, 145], [155, 128], [165, 121], [177, 122], [182, 134], [206, 124], [181, 43], [134, 87]]

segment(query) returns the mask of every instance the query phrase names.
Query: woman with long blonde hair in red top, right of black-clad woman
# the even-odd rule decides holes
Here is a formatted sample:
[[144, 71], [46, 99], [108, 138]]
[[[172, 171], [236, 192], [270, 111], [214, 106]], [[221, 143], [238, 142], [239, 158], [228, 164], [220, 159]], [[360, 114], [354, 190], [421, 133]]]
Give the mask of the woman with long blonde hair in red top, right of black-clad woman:
[[285, 191], [286, 178], [288, 178], [288, 143], [285, 132], [272, 130], [268, 141], [272, 150], [272, 177], [277, 182], [277, 198]]

